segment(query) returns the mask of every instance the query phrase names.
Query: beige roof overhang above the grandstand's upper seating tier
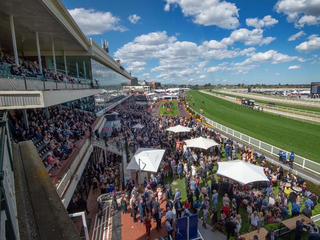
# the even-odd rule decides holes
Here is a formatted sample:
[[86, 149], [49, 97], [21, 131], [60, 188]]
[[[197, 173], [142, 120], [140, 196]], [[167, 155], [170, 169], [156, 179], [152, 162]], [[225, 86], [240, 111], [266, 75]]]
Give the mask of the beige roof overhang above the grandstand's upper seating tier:
[[10, 0], [1, 2], [0, 46], [13, 51], [9, 14], [13, 22], [18, 51], [36, 49], [35, 32], [39, 32], [41, 51], [55, 50], [88, 51], [89, 40], [72, 19], [60, 0]]

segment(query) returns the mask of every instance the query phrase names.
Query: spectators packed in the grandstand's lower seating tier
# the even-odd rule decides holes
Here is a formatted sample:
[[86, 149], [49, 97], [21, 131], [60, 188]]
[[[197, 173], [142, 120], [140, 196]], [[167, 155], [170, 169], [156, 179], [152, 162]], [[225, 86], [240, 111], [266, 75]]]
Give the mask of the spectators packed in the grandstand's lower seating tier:
[[96, 116], [92, 113], [69, 108], [49, 108], [49, 118], [44, 109], [32, 109], [27, 112], [29, 130], [25, 128], [21, 111], [10, 115], [12, 136], [17, 141], [42, 139], [50, 152], [46, 159], [48, 164], [61, 167], [60, 160], [66, 159], [76, 147], [75, 142], [83, 138], [87, 129], [92, 131]]

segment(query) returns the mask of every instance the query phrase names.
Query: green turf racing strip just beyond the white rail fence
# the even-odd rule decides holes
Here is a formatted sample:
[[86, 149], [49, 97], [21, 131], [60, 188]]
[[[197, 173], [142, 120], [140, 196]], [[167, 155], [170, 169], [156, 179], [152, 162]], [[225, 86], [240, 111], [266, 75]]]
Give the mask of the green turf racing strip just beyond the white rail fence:
[[320, 162], [320, 125], [255, 111], [197, 90], [187, 91], [187, 96], [190, 95], [192, 100], [189, 102], [195, 102], [195, 106], [191, 107], [197, 112], [202, 107], [207, 118], [278, 148], [293, 150], [297, 155]]

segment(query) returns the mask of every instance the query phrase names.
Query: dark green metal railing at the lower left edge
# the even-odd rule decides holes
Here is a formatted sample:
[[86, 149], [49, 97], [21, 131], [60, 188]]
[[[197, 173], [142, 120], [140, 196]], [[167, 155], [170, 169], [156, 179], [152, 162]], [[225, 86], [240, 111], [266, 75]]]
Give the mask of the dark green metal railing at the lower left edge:
[[9, 239], [19, 240], [12, 152], [7, 121], [7, 112], [2, 112], [0, 117], [0, 236], [9, 236]]

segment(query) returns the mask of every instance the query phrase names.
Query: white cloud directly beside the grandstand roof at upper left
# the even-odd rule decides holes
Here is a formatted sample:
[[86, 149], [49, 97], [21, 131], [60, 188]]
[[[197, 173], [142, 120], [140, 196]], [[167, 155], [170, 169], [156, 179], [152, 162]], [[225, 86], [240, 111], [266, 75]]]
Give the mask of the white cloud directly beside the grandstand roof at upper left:
[[83, 7], [68, 9], [68, 11], [85, 35], [102, 34], [111, 30], [127, 30], [126, 27], [120, 25], [121, 19], [111, 12], [85, 9]]

